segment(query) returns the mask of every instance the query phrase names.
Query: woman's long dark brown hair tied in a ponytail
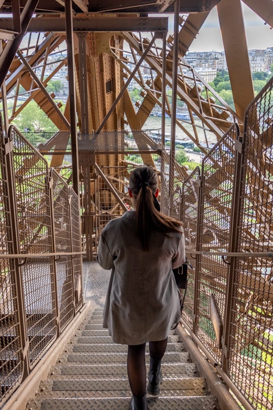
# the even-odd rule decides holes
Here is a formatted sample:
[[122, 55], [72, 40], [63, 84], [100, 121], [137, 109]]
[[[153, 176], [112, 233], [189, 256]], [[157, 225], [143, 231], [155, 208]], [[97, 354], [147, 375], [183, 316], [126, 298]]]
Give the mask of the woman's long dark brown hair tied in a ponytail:
[[135, 168], [130, 174], [130, 189], [136, 199], [137, 233], [144, 251], [148, 251], [151, 230], [167, 234], [181, 232], [182, 222], [162, 214], [156, 207], [158, 176], [148, 166]]

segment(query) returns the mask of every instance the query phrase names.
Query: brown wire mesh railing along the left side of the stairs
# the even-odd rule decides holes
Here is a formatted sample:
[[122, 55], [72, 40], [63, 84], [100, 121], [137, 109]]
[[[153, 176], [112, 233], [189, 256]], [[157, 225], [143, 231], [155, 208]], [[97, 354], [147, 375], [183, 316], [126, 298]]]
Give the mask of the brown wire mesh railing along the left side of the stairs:
[[78, 197], [0, 115], [1, 404], [83, 303]]

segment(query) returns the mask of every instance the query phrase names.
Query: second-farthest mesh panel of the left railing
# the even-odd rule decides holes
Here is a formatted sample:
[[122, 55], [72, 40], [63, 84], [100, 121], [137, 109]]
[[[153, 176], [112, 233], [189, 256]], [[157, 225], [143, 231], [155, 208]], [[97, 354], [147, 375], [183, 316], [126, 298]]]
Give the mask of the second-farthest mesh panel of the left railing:
[[60, 252], [60, 256], [56, 259], [56, 277], [59, 323], [60, 331], [62, 331], [74, 315], [71, 256], [61, 255], [61, 253], [71, 252], [69, 197], [67, 183], [54, 169], [51, 169], [50, 177], [55, 252]]

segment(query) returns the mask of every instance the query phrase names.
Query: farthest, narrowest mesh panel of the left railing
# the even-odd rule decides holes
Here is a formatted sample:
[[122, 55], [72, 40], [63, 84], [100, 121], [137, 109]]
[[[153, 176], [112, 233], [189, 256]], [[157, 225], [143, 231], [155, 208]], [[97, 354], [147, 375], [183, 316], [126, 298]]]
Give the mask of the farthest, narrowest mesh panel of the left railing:
[[[81, 252], [81, 233], [79, 220], [79, 203], [78, 196], [72, 187], [69, 187], [70, 198], [70, 229], [71, 229], [71, 247], [72, 252]], [[75, 255], [72, 259], [73, 281], [75, 289], [75, 310], [77, 311], [82, 305], [82, 256]]]

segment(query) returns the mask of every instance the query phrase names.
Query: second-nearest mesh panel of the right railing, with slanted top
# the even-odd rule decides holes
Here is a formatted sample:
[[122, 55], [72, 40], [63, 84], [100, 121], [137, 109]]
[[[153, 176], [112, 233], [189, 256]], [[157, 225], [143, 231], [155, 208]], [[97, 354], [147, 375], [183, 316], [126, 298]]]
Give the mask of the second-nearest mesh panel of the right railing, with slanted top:
[[229, 250], [236, 136], [237, 128], [234, 125], [204, 157], [201, 171], [200, 234], [197, 250], [208, 254], [198, 258], [196, 333], [219, 363], [221, 335], [216, 338], [211, 304], [213, 300], [216, 301], [224, 322], [227, 265], [221, 256], [209, 253], [226, 253]]

